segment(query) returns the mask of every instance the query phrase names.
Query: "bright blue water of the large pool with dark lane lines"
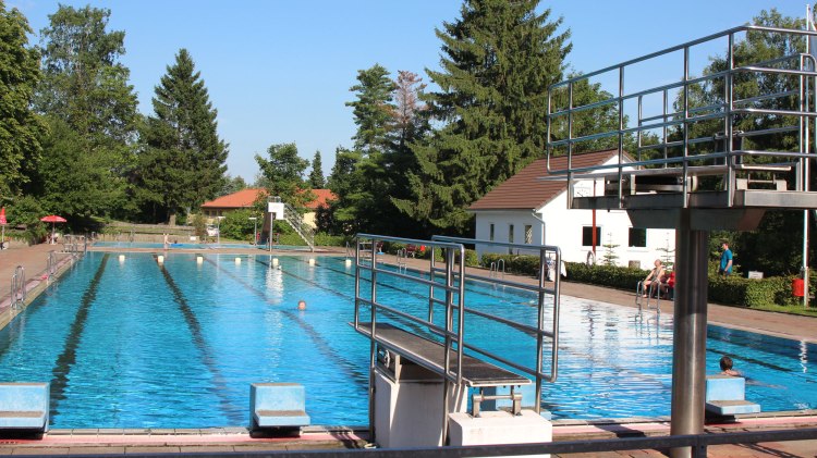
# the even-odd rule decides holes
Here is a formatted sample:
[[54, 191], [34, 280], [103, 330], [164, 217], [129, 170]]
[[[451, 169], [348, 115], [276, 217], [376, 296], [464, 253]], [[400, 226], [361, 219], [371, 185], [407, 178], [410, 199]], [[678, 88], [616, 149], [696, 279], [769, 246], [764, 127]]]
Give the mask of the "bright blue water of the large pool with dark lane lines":
[[[249, 384], [298, 382], [316, 424], [367, 423], [368, 341], [353, 319], [342, 258], [90, 252], [0, 332], [0, 380], [50, 381], [54, 428], [244, 425]], [[381, 278], [385, 280], [385, 278]], [[388, 278], [379, 299], [416, 311], [425, 287]], [[533, 295], [468, 285], [468, 307], [528, 320]], [[300, 299], [307, 310], [296, 310]], [[466, 336], [529, 363], [529, 339], [470, 321]], [[817, 347], [710, 326], [707, 368], [730, 355], [766, 411], [817, 407]], [[669, 414], [672, 323], [562, 298], [554, 418]]]

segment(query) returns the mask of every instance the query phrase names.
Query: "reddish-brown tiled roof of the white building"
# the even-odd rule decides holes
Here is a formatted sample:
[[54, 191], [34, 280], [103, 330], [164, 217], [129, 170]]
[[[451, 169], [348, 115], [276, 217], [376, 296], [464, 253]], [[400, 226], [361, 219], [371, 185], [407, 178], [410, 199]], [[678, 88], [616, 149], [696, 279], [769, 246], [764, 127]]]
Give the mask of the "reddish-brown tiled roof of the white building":
[[[613, 156], [618, 150], [587, 152], [573, 154], [574, 168], [598, 165]], [[566, 169], [568, 157], [550, 159], [550, 168], [554, 170]], [[549, 176], [547, 159], [539, 159], [522, 169], [515, 175], [488, 191], [481, 199], [468, 207], [471, 211], [481, 210], [532, 210], [539, 209], [552, 200], [561, 191], [568, 189], [565, 180], [547, 181], [540, 180]], [[559, 175], [557, 175], [559, 176]]]

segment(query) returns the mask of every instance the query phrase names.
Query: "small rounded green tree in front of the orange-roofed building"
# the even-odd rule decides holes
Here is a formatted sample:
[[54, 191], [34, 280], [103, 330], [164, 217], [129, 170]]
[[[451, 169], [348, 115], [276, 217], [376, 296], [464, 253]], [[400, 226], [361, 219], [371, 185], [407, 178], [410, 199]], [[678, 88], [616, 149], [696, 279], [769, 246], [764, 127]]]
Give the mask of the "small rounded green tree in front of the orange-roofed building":
[[271, 145], [267, 148], [267, 154], [269, 159], [255, 154], [267, 191], [302, 210], [315, 199], [304, 181], [304, 171], [309, 166], [309, 161], [297, 156], [295, 144]]

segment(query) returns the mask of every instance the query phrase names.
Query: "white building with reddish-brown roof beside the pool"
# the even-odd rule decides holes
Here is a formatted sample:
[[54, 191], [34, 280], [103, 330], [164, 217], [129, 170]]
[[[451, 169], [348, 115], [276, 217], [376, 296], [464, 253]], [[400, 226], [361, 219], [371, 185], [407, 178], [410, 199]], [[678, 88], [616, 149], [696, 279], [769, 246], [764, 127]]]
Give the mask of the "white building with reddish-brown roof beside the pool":
[[[573, 166], [617, 163], [618, 151], [573, 156]], [[551, 158], [551, 169], [566, 168], [566, 158]], [[546, 160], [533, 162], [491, 189], [468, 210], [476, 215], [476, 238], [516, 244], [556, 245], [568, 262], [586, 262], [593, 251], [593, 210], [568, 209], [566, 180], [547, 177]], [[564, 175], [561, 175], [564, 176]], [[574, 183], [576, 196], [603, 194], [603, 181]], [[594, 189], [595, 188], [595, 189]], [[625, 211], [596, 211], [596, 261], [608, 250], [618, 265], [637, 263], [647, 269], [658, 258], [674, 258], [673, 230], [635, 228]], [[605, 246], [614, 246], [607, 248]], [[509, 252], [508, 248], [477, 246], [477, 253]], [[516, 250], [514, 250], [516, 252]], [[524, 253], [524, 250], [521, 251]]]

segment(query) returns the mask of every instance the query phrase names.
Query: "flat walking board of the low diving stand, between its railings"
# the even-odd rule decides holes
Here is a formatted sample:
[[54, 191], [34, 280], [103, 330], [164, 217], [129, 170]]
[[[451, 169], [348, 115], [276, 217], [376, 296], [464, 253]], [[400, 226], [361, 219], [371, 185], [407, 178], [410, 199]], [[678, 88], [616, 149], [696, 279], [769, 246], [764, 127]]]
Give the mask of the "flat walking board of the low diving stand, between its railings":
[[[371, 338], [370, 330], [371, 323], [358, 323], [357, 332], [369, 338]], [[381, 359], [380, 362], [394, 374], [397, 380], [403, 379], [404, 375], [400, 373], [403, 364], [394, 358], [405, 358], [434, 373], [444, 371], [444, 348], [438, 342], [387, 323], [377, 325], [374, 341], [393, 355]], [[455, 351], [449, 351], [449, 368], [456, 368], [456, 357]], [[462, 382], [475, 388], [531, 384], [529, 379], [467, 355], [463, 355], [462, 359]]]

